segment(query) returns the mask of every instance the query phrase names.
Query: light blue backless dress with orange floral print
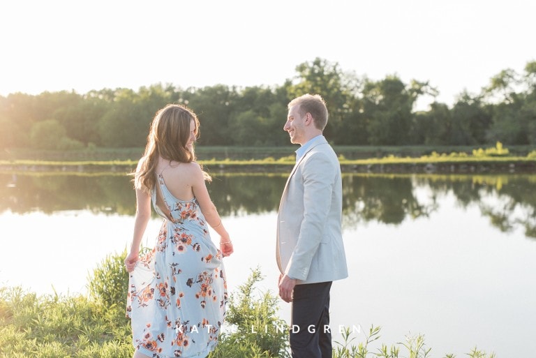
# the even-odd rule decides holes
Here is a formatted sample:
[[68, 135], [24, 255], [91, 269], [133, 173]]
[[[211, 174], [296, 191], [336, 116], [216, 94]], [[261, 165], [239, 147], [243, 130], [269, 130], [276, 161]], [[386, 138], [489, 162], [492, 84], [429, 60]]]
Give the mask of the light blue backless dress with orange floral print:
[[158, 175], [165, 218], [152, 251], [138, 260], [128, 283], [133, 344], [155, 358], [206, 357], [218, 343], [228, 301], [221, 251], [211, 241], [195, 197], [178, 200]]

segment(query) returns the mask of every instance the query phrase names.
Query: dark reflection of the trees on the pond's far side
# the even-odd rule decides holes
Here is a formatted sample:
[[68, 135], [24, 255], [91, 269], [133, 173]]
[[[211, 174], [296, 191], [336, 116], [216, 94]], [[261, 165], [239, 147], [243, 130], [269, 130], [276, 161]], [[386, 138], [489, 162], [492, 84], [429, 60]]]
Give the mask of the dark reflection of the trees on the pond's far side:
[[[223, 216], [276, 211], [286, 174], [217, 174], [209, 192]], [[135, 213], [131, 177], [117, 174], [0, 174], [0, 213], [89, 209], [106, 214]], [[344, 174], [345, 228], [367, 221], [397, 225], [438, 210], [438, 195], [452, 193], [456, 204], [477, 204], [502, 232], [523, 228], [536, 237], [536, 174], [439, 175]]]

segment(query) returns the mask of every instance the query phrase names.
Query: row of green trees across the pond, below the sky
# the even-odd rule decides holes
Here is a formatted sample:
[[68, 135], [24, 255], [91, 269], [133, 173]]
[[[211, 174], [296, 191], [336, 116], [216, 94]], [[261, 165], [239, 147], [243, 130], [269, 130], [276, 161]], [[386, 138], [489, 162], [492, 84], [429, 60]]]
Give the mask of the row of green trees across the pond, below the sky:
[[276, 87], [154, 84], [0, 96], [0, 149], [143, 147], [156, 110], [168, 103], [198, 114], [202, 145], [279, 146], [288, 144], [286, 105], [304, 93], [327, 101], [325, 133], [336, 145], [536, 144], [536, 61], [523, 73], [502, 70], [479, 94], [463, 91], [452, 106], [434, 100], [422, 112], [417, 100], [438, 96], [429, 82], [404, 83], [396, 75], [374, 81], [319, 58], [296, 71]]

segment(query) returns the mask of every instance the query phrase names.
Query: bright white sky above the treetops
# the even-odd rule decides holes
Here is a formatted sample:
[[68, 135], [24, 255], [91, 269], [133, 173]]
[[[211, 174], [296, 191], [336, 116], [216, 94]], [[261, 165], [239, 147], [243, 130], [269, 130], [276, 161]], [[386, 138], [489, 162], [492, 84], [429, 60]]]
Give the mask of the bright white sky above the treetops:
[[315, 58], [477, 94], [536, 61], [533, 0], [2, 0], [0, 96], [279, 86]]

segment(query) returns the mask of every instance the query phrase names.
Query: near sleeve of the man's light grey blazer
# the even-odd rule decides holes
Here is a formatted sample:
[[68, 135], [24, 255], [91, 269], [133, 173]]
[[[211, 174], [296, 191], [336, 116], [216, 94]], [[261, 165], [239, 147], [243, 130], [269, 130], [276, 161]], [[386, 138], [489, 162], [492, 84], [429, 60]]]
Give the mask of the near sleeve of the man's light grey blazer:
[[304, 185], [304, 215], [301, 221], [297, 245], [290, 257], [285, 274], [306, 280], [311, 261], [324, 234], [332, 195], [336, 168], [322, 152], [304, 158], [301, 176]]

